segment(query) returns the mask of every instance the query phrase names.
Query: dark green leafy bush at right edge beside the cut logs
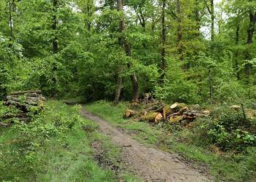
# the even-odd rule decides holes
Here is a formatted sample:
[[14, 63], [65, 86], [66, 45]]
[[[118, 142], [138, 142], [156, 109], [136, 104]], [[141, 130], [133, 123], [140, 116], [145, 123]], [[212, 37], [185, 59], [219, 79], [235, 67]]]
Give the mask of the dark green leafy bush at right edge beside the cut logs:
[[227, 106], [217, 106], [211, 118], [198, 119], [199, 126], [195, 133], [202, 145], [214, 144], [223, 151], [242, 151], [248, 146], [256, 146], [256, 130], [254, 120], [244, 119], [242, 111], [235, 111]]

